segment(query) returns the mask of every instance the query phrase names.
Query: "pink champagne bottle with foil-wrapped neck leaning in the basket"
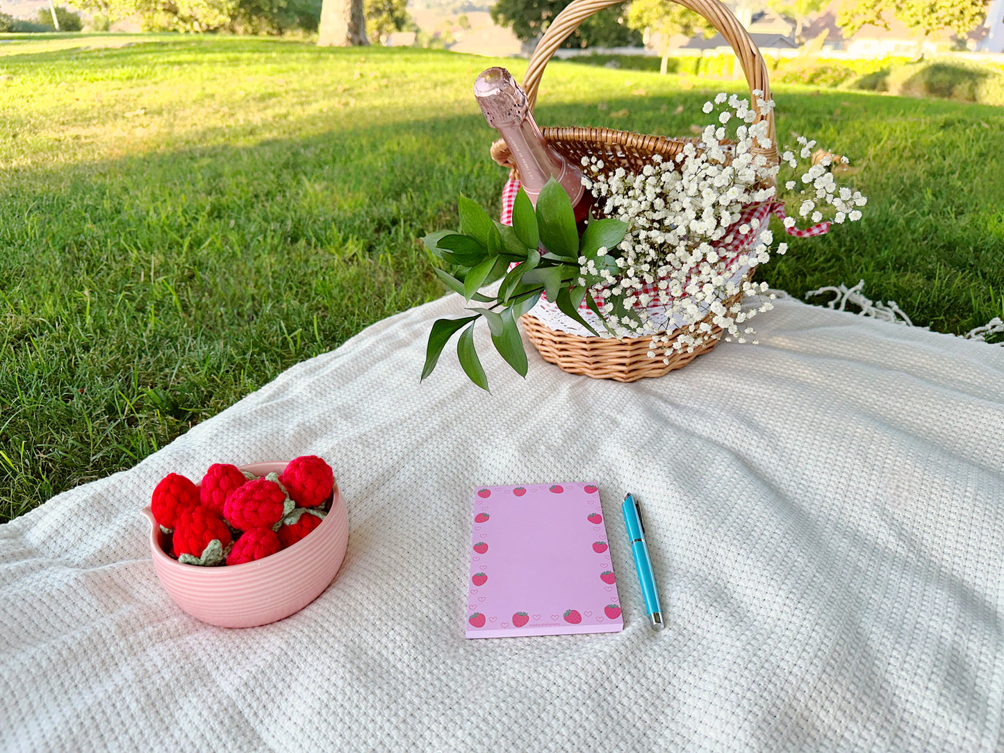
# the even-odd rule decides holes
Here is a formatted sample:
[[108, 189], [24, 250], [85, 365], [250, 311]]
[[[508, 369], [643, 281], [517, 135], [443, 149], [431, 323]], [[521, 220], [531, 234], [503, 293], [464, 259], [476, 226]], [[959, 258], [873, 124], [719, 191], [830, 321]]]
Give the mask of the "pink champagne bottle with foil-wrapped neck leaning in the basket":
[[512, 74], [505, 68], [488, 68], [474, 82], [474, 95], [488, 124], [509, 147], [530, 202], [536, 206], [540, 190], [554, 178], [571, 199], [575, 222], [581, 228], [593, 203], [592, 194], [582, 186], [582, 171], [544, 139], [530, 113], [526, 93]]

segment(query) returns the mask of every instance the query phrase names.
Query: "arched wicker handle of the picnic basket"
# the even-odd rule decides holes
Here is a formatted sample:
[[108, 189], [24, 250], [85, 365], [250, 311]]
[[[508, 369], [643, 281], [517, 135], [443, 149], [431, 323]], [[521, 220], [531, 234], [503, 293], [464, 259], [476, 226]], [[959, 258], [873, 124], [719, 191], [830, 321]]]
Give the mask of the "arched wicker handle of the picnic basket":
[[[736, 57], [739, 58], [739, 64], [742, 65], [743, 73], [746, 74], [746, 81], [750, 86], [750, 93], [752, 94], [754, 89], [759, 89], [763, 92], [764, 99], [771, 98], [770, 81], [767, 78], [767, 66], [764, 63], [763, 55], [760, 54], [760, 50], [750, 38], [749, 32], [743, 28], [743, 25], [739, 23], [739, 20], [732, 14], [732, 11], [723, 5], [720, 0], [667, 1], [679, 3], [710, 21], [711, 25], [725, 37], [725, 41], [731, 45], [733, 51], [736, 53]], [[537, 87], [540, 85], [540, 79], [544, 75], [544, 68], [547, 66], [547, 61], [550, 60], [555, 50], [561, 46], [561, 42], [577, 29], [578, 25], [584, 19], [597, 11], [608, 8], [611, 5], [616, 5], [619, 2], [622, 2], [622, 0], [572, 0], [572, 2], [565, 6], [564, 10], [558, 13], [550, 26], [547, 27], [547, 31], [540, 38], [536, 49], [533, 50], [533, 55], [530, 57], [530, 64], [527, 66], [526, 74], [523, 76], [523, 90], [526, 92], [531, 110], [537, 102]], [[771, 164], [776, 164], [777, 145], [774, 129], [774, 110], [771, 109], [766, 114], [761, 114], [759, 108], [756, 107], [756, 102], [753, 101], [752, 104], [756, 111], [754, 122], [767, 121], [767, 136], [770, 139], [771, 146], [770, 149], [762, 150], [761, 153], [767, 155], [768, 161]]]

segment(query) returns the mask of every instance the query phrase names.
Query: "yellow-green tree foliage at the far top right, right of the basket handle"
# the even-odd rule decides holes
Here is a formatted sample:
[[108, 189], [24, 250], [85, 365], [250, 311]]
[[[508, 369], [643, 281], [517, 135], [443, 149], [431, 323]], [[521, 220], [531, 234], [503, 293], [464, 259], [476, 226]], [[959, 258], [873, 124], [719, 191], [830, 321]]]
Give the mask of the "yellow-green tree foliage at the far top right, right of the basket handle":
[[836, 18], [845, 36], [871, 24], [889, 29], [887, 16], [900, 19], [924, 35], [948, 29], [963, 36], [986, 17], [986, 0], [852, 0]]

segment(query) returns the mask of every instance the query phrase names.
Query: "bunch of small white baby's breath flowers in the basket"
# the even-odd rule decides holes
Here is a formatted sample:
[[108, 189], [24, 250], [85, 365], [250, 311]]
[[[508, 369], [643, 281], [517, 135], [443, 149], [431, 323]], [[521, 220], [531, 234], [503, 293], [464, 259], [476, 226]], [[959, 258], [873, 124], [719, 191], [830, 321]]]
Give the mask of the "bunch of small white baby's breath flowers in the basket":
[[[661, 353], [668, 363], [671, 350], [693, 352], [723, 334], [726, 340], [745, 342], [755, 334], [746, 322], [773, 307], [773, 295], [759, 298], [767, 284], [751, 282], [748, 275], [770, 260], [773, 236], [766, 218], [742, 222], [750, 205], [776, 200], [780, 170], [765, 154], [773, 146], [766, 120], [756, 121], [758, 112], [773, 108], [773, 101], [763, 99], [760, 91], [753, 93], [756, 109], [736, 94], [719, 93], [714, 104], [706, 102], [704, 111], [710, 113], [715, 104], [727, 101], [717, 118], [722, 124], [708, 126], [699, 142], [687, 143], [673, 160], [653, 157], [641, 173], [619, 167], [604, 171], [602, 160], [582, 158], [582, 183], [596, 197], [596, 209], [626, 222], [629, 229], [617, 248], [600, 248], [595, 258], [579, 257], [577, 283], [602, 298], [600, 311], [616, 336], [657, 331], [649, 357]], [[733, 118], [741, 124], [729, 133], [724, 124]], [[788, 164], [789, 154], [784, 158]], [[822, 191], [807, 200], [809, 211], [825, 201], [847, 219], [857, 219], [859, 213], [852, 216], [849, 206], [863, 204], [863, 198], [857, 193], [844, 197], [848, 190], [835, 188], [825, 165], [812, 166], [805, 176], [803, 183]], [[723, 255], [734, 244], [738, 253]], [[786, 250], [781, 243], [776, 253]], [[749, 296], [758, 296], [758, 304], [744, 305]], [[679, 328], [659, 331], [654, 317], [675, 321]]]

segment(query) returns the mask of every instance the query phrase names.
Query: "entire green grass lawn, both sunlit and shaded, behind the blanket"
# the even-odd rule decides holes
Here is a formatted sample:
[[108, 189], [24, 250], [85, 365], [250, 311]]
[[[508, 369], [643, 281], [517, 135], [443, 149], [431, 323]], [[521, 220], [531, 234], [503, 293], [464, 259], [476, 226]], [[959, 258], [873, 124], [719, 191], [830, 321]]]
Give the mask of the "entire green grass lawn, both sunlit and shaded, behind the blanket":
[[[459, 193], [497, 207], [505, 180], [471, 93], [490, 64], [525, 67], [248, 38], [0, 44], [0, 520], [441, 295], [416, 238], [455, 227]], [[555, 62], [537, 115], [689, 136], [723, 88], [741, 85]], [[848, 155], [869, 203], [760, 279], [802, 296], [863, 278], [945, 332], [1004, 313], [1004, 109], [775, 94], [782, 143]]]

